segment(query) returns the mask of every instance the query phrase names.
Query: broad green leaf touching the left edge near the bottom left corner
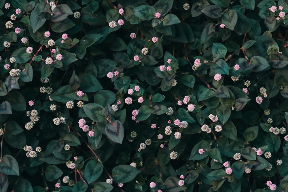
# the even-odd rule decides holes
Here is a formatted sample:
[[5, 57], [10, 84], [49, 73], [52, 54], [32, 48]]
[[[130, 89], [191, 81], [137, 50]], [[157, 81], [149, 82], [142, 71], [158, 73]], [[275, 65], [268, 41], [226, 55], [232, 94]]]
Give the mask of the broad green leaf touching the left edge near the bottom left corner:
[[11, 155], [4, 155], [0, 161], [0, 170], [6, 175], [19, 175], [19, 166]]

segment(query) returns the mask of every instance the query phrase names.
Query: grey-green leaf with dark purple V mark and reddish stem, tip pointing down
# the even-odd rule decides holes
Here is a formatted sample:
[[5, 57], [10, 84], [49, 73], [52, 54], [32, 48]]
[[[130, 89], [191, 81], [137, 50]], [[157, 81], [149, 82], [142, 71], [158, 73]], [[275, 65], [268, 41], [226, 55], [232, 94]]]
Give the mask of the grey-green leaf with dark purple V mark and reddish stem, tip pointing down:
[[119, 120], [107, 123], [105, 126], [105, 133], [109, 139], [121, 144], [124, 138], [123, 124]]

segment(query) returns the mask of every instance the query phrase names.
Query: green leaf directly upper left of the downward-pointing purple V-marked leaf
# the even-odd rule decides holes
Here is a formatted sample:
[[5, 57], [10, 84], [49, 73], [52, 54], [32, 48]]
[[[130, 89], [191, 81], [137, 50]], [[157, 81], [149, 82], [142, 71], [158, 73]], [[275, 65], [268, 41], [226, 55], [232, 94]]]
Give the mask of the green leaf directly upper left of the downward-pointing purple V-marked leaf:
[[104, 107], [97, 103], [88, 103], [83, 106], [84, 112], [92, 121], [101, 122], [104, 118]]

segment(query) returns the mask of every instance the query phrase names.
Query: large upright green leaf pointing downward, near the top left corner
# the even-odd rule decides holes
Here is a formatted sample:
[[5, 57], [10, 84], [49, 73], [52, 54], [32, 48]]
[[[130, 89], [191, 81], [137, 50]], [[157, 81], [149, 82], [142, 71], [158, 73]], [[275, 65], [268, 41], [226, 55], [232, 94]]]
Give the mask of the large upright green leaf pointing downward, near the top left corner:
[[44, 11], [49, 12], [49, 9], [50, 7], [46, 5], [46, 3], [37, 3], [35, 8], [32, 10], [31, 16], [30, 16], [30, 22], [31, 22], [31, 27], [33, 29], [33, 33], [35, 33], [46, 21], [46, 19], [39, 18], [38, 14]]

